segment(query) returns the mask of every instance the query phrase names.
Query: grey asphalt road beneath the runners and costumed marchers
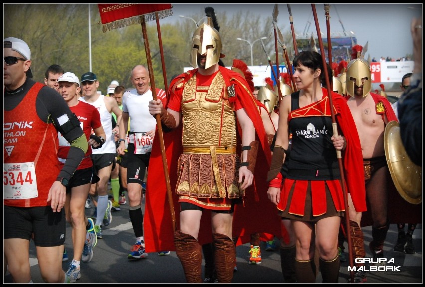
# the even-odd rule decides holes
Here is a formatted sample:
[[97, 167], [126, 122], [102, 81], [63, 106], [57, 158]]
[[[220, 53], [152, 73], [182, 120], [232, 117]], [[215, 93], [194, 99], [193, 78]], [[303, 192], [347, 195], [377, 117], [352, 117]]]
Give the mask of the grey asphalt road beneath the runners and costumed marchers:
[[[86, 209], [86, 214], [91, 215], [92, 210]], [[81, 279], [77, 283], [185, 283], [183, 269], [175, 252], [168, 256], [159, 256], [150, 253], [145, 259], [130, 261], [127, 254], [134, 243], [134, 233], [131, 223], [128, 221], [128, 205], [121, 205], [121, 211], [112, 213], [113, 220], [108, 227], [102, 230], [103, 239], [99, 239], [93, 249], [94, 257], [89, 263], [81, 263]], [[371, 227], [363, 228], [365, 246], [371, 240]], [[418, 225], [413, 235], [416, 253], [408, 255], [394, 252], [393, 247], [397, 241], [397, 227], [391, 225], [387, 241], [384, 246], [385, 256], [390, 260], [394, 258], [394, 264], [400, 266], [400, 272], [368, 272], [367, 283], [422, 283], [422, 226]], [[66, 250], [69, 260], [63, 262], [63, 270], [66, 271], [72, 260], [73, 248], [71, 242], [71, 228], [66, 230]], [[264, 251], [265, 243], [262, 243], [262, 263], [248, 264], [249, 245], [241, 245], [236, 248], [238, 271], [234, 273], [233, 283], [283, 283], [280, 266], [280, 252]], [[348, 250], [346, 245], [346, 250]], [[371, 256], [366, 248], [366, 256]], [[31, 276], [34, 283], [43, 283], [40, 275], [38, 261], [36, 259], [35, 246], [30, 245]], [[203, 263], [204, 264], [204, 263]], [[367, 264], [368, 265], [368, 264]], [[339, 283], [349, 280], [348, 264], [341, 263]], [[3, 277], [3, 283], [11, 283], [10, 274]], [[320, 273], [317, 281], [321, 282]]]

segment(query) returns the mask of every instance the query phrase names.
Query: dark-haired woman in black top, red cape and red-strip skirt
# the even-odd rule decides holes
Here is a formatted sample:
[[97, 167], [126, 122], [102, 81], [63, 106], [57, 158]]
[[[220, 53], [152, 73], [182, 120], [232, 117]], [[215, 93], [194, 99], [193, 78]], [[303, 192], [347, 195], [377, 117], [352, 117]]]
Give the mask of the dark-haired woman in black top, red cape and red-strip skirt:
[[[332, 92], [329, 106], [320, 54], [300, 52], [294, 58], [293, 75], [298, 91], [282, 99], [279, 126], [267, 180], [268, 195], [282, 218], [290, 219], [296, 237], [295, 273], [298, 283], [316, 282], [314, 252], [317, 247], [323, 282], [337, 283], [338, 231], [344, 215], [336, 150], [342, 151], [348, 191], [359, 210], [366, 210], [361, 148], [345, 99]], [[338, 133], [332, 135], [331, 108]], [[288, 171], [282, 180], [282, 162], [291, 140]]]

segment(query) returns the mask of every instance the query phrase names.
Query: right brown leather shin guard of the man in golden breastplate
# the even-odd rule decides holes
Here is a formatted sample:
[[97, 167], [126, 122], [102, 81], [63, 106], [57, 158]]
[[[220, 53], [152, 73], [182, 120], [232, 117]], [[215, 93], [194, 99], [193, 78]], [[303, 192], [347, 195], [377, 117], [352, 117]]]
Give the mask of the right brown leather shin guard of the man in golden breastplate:
[[233, 279], [236, 249], [233, 241], [226, 235], [213, 233], [215, 245], [215, 270], [219, 283], [231, 283]]

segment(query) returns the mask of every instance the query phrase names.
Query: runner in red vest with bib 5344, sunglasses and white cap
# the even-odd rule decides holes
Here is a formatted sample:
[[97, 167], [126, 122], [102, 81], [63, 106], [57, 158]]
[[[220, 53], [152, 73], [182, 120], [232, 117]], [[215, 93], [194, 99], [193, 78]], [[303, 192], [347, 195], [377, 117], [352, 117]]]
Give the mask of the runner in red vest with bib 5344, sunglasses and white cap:
[[[54, 89], [36, 83], [31, 51], [4, 39], [3, 204], [4, 255], [16, 283], [32, 283], [29, 240], [44, 281], [66, 283], [62, 270], [66, 186], [87, 151], [78, 118]], [[66, 163], [57, 159], [58, 131], [71, 143]]]

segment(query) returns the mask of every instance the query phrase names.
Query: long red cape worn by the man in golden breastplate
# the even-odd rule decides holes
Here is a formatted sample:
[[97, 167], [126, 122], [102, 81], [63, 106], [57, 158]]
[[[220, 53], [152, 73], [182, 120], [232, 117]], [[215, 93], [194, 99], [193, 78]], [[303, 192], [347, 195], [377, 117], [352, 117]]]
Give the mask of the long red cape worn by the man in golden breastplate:
[[[258, 112], [258, 107], [254, 102], [254, 97], [250, 92], [248, 85], [245, 79], [242, 78], [237, 72], [233, 72], [227, 68], [219, 67], [221, 74], [229, 85], [235, 85], [236, 95], [239, 98], [239, 102], [245, 109], [246, 113], [252, 119], [255, 130], [257, 132], [257, 139], [260, 141], [260, 146], [258, 150], [257, 163], [255, 168], [255, 180], [257, 188], [261, 187], [261, 194], [265, 193], [264, 201], [267, 199], [267, 188], [268, 185], [265, 183], [264, 173], [269, 170], [269, 164], [271, 161], [271, 152], [267, 143], [267, 135], [264, 131], [264, 126], [262, 125], [262, 120]], [[170, 84], [170, 90], [168, 95], [170, 95], [176, 88], [176, 84], [183, 82], [185, 83], [189, 78], [191, 78], [197, 69], [191, 70], [189, 72], [183, 73], [177, 76]], [[168, 97], [169, 98], [169, 97]], [[174, 129], [170, 132], [164, 132], [164, 146], [167, 159], [167, 170], [169, 171], [169, 180], [171, 186], [171, 197], [173, 198], [173, 208], [176, 217], [176, 228], [179, 229], [179, 212], [180, 206], [178, 204], [178, 196], [175, 195], [175, 188], [177, 183], [177, 161], [179, 156], [182, 154], [182, 128], [181, 124], [179, 128]], [[238, 128], [240, 133], [240, 128]], [[239, 145], [238, 145], [239, 146]], [[262, 158], [261, 158], [262, 155]], [[258, 176], [262, 172], [261, 177]], [[258, 179], [257, 179], [258, 178]], [[260, 181], [260, 182], [258, 182]], [[250, 203], [248, 198], [253, 198], [253, 192], [251, 188], [246, 190], [245, 205], [246, 206], [255, 206], [257, 203]], [[262, 200], [263, 201], [263, 200]], [[269, 208], [271, 209], [271, 208]], [[237, 211], [239, 212], [239, 211]], [[239, 215], [236, 215], [235, 218], [240, 218]], [[258, 219], [264, 214], [264, 210], [261, 210], [258, 214]], [[259, 220], [260, 224], [258, 226], [253, 226], [255, 229], [253, 232], [261, 231], [261, 226], [270, 224], [270, 219], [276, 218], [276, 226], [270, 229], [271, 232], [280, 232], [280, 219], [274, 214], [273, 218], [262, 217], [262, 220]], [[241, 230], [241, 227], [244, 225], [252, 225], [249, 221], [243, 220], [233, 220], [233, 236], [238, 236], [236, 230]], [[205, 210], [203, 212], [200, 224], [200, 232], [198, 236], [198, 241], [200, 244], [208, 243], [212, 241], [212, 231], [211, 231], [211, 222], [210, 222], [210, 211]], [[276, 231], [274, 231], [276, 230]], [[279, 233], [276, 233], [279, 234]], [[245, 237], [244, 237], [245, 238]], [[164, 167], [162, 160], [162, 152], [160, 149], [159, 135], [155, 137], [149, 162], [148, 168], [148, 180], [146, 187], [146, 204], [145, 204], [145, 217], [144, 217], [144, 240], [146, 246], [146, 252], [158, 252], [162, 250], [175, 250], [174, 246], [174, 232], [173, 232], [173, 223], [171, 219], [171, 212], [169, 208], [169, 203], [167, 200], [167, 186], [166, 179], [164, 176]], [[248, 240], [249, 241], [249, 240]]]

